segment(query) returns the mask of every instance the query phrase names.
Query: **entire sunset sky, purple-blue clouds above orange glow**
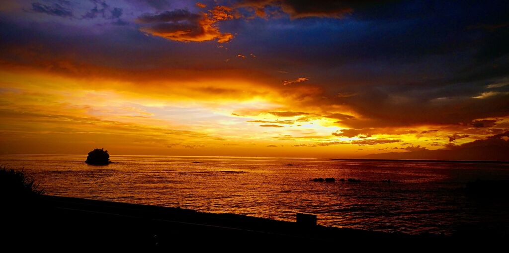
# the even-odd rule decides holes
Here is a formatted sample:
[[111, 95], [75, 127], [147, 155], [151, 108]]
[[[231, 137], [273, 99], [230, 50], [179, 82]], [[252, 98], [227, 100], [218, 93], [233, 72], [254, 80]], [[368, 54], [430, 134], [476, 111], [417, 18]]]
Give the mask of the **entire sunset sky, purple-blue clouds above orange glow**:
[[509, 155], [508, 10], [2, 1], [0, 153]]

